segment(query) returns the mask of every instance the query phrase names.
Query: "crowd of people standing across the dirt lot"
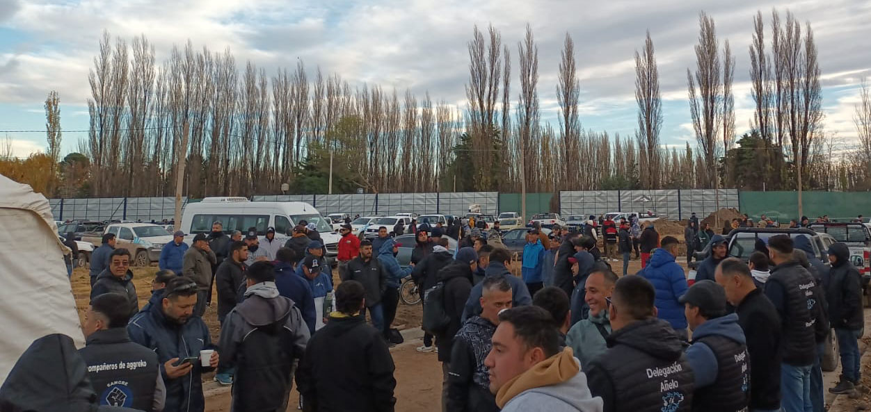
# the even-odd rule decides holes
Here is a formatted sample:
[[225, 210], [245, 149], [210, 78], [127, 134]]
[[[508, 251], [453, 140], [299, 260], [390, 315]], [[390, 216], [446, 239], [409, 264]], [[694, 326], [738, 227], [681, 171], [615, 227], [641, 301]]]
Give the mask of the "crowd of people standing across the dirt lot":
[[[107, 234], [91, 263], [79, 351], [91, 402], [202, 412], [202, 374], [214, 370], [233, 385], [237, 412], [284, 411], [294, 382], [302, 410], [392, 411], [389, 348], [402, 336], [391, 324], [407, 276], [422, 294], [417, 350], [442, 363], [445, 412], [822, 412], [820, 358], [832, 329], [842, 373], [828, 391], [855, 390], [861, 278], [843, 243], [825, 265], [805, 237], [773, 236], [746, 263], [726, 258], [723, 236], [693, 231], [691, 219], [693, 244], [705, 239], [711, 256], [689, 287], [678, 239], [637, 218], [597, 228], [592, 217], [581, 230], [528, 229], [520, 276], [496, 225], [381, 227], [368, 240], [345, 223], [335, 288], [314, 225], [300, 223], [279, 245], [272, 228], [260, 241], [255, 228], [243, 239], [215, 222], [189, 248], [174, 234], [141, 308], [131, 256]], [[394, 236], [406, 231], [415, 245], [403, 269]], [[634, 275], [633, 251], [642, 263]], [[620, 255], [618, 276], [611, 262]], [[213, 282], [217, 342], [202, 319]], [[23, 369], [10, 380], [32, 374]]]

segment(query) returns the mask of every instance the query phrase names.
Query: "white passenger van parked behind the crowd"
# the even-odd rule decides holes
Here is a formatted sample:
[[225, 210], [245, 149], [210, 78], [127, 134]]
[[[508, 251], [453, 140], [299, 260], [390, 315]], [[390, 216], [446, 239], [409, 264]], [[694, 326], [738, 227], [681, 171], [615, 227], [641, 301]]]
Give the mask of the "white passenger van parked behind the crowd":
[[257, 228], [261, 240], [266, 236], [267, 228], [273, 227], [275, 238], [284, 244], [301, 220], [317, 225], [327, 247], [327, 256], [339, 254], [339, 235], [318, 209], [304, 202], [249, 202], [245, 197], [206, 197], [201, 202], [187, 203], [180, 229], [187, 234], [186, 243], [191, 243], [194, 235], [207, 235], [212, 231], [212, 223], [218, 221], [223, 223], [227, 235], [233, 234], [233, 230], [244, 235], [248, 228]]

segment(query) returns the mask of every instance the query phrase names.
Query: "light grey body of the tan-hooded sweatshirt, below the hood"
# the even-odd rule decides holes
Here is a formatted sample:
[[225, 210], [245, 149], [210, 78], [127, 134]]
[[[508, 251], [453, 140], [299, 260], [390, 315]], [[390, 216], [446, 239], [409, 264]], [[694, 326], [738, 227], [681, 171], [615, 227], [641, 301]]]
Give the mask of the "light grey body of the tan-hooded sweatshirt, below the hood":
[[513, 397], [502, 412], [602, 412], [602, 398], [590, 393], [587, 376], [578, 371], [558, 385], [527, 389]]

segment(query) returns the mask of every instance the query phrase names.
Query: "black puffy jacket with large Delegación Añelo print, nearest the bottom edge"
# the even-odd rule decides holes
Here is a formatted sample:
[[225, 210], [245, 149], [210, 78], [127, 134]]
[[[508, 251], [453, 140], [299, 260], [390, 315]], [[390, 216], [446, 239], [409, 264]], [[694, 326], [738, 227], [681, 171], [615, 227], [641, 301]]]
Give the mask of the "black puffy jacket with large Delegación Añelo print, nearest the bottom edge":
[[608, 349], [587, 370], [604, 412], [690, 410], [695, 376], [671, 324], [656, 318], [633, 322], [605, 341]]

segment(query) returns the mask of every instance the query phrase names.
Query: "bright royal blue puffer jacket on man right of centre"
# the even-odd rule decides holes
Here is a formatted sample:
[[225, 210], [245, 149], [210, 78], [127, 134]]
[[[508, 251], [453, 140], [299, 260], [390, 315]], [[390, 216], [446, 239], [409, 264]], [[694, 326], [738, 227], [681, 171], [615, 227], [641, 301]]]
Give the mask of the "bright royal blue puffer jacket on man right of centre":
[[651, 262], [638, 272], [638, 276], [644, 276], [656, 289], [659, 319], [668, 321], [674, 329], [686, 329], [684, 305], [678, 302], [678, 298], [686, 293], [686, 276], [684, 269], [674, 262], [674, 256], [665, 249], [656, 249]]

